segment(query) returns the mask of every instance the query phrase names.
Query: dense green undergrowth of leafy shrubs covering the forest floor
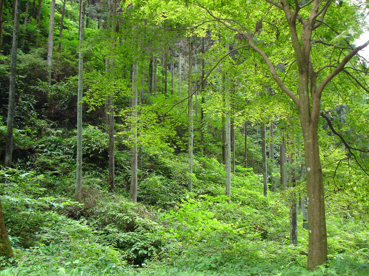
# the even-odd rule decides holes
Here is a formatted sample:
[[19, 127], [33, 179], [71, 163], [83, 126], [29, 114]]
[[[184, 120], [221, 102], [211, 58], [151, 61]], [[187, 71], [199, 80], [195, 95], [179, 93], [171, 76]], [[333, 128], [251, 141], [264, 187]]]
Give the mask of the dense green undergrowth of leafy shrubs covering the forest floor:
[[[369, 273], [365, 210], [337, 215], [337, 205], [344, 202], [328, 204], [328, 268], [308, 271], [303, 268], [308, 234], [300, 214], [298, 245], [289, 245], [289, 191], [264, 197], [261, 176], [252, 169], [237, 166], [228, 198], [224, 165], [197, 155], [194, 192], [189, 193], [182, 153], [146, 155], [134, 203], [127, 199], [129, 156], [124, 149], [117, 152], [120, 188], [114, 194], [106, 191], [103, 164], [93, 163], [96, 156], [86, 153], [84, 167], [89, 170], [83, 175], [83, 199], [78, 203], [73, 202], [73, 131], [47, 131], [29, 144], [18, 144], [20, 151], [32, 147], [33, 153], [19, 159], [17, 168], [0, 171], [4, 220], [15, 251], [14, 259], [3, 260], [1, 265], [8, 268], [0, 275]], [[99, 144], [102, 131], [90, 126], [85, 132], [96, 141], [86, 150], [106, 149]], [[16, 133], [18, 139], [30, 135]], [[37, 162], [27, 163], [29, 159]]]

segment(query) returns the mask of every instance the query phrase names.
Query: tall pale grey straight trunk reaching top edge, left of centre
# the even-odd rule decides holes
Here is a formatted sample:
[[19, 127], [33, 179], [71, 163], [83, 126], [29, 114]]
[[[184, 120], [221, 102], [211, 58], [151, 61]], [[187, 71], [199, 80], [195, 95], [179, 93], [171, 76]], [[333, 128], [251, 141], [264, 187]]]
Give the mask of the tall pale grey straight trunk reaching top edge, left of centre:
[[[64, 1], [65, 4], [65, 1]], [[82, 98], [83, 98], [83, 36], [84, 36], [85, 8], [80, 1], [79, 17], [79, 53], [78, 53], [78, 95], [77, 95], [77, 169], [75, 201], [81, 201], [82, 193]]]

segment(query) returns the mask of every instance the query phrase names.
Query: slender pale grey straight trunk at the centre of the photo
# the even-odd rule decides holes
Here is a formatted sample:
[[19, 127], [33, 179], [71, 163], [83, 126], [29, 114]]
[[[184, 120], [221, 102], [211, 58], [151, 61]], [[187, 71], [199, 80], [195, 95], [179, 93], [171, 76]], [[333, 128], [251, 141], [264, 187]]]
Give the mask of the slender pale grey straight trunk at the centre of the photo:
[[189, 176], [187, 188], [192, 192], [192, 163], [193, 163], [193, 100], [192, 100], [192, 38], [190, 38], [189, 57], [188, 57], [188, 110], [189, 110], [189, 142], [188, 142], [188, 167]]

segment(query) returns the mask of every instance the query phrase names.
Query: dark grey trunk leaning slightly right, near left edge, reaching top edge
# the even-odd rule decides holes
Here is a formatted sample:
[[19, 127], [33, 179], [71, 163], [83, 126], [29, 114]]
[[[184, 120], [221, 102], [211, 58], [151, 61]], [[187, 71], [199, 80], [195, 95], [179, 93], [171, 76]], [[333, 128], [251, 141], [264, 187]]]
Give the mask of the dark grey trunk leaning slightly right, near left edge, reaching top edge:
[[9, 105], [8, 105], [8, 118], [7, 118], [7, 132], [6, 132], [4, 167], [10, 167], [11, 166], [11, 160], [12, 160], [12, 157], [13, 157], [15, 74], [16, 74], [16, 65], [17, 65], [17, 49], [18, 49], [18, 36], [19, 36], [19, 10], [20, 10], [20, 0], [15, 0], [13, 42], [11, 44]]

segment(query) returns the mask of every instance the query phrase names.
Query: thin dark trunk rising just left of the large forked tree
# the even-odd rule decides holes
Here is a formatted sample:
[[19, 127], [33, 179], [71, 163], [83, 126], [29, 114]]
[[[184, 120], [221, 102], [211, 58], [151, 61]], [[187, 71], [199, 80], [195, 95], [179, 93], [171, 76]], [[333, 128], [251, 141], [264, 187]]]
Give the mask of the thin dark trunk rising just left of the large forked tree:
[[[290, 138], [289, 148], [290, 153], [288, 156], [289, 162], [289, 177], [288, 182], [292, 189], [296, 187], [296, 177], [293, 169], [294, 162], [294, 152], [292, 151], [292, 145], [294, 144], [294, 139]], [[290, 195], [290, 244], [297, 245], [297, 198], [296, 192], [292, 191]]]

